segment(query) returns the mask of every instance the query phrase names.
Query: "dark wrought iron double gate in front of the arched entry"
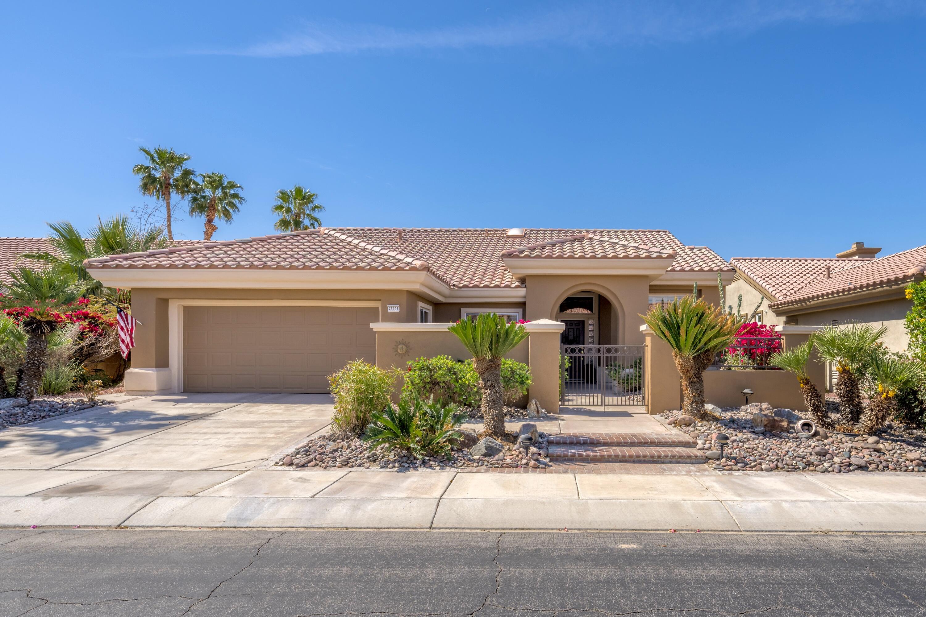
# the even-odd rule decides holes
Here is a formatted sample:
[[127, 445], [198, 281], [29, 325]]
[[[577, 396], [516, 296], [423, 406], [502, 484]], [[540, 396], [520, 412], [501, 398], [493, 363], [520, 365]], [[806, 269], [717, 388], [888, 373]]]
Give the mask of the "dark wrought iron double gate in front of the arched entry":
[[645, 345], [561, 345], [560, 404], [645, 404], [645, 350]]

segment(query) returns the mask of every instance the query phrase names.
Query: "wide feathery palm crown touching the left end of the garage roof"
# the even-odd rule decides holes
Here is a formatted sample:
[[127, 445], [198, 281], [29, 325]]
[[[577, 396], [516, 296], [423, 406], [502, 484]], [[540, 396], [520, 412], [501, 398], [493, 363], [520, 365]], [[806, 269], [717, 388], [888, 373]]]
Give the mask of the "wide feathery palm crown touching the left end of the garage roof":
[[112, 295], [103, 284], [91, 277], [83, 262], [94, 257], [126, 253], [140, 253], [163, 249], [168, 245], [163, 228], [142, 230], [134, 226], [128, 216], [113, 216], [105, 221], [97, 218], [96, 227], [86, 236], [81, 235], [68, 221], [48, 223], [52, 233], [48, 236], [53, 252], [24, 253], [24, 259], [44, 262], [60, 276], [76, 278], [89, 295]]

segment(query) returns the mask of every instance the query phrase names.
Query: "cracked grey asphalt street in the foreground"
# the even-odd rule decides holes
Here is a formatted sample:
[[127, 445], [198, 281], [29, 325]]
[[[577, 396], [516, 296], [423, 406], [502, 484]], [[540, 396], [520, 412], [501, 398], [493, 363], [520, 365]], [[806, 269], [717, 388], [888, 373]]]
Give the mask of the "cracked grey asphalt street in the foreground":
[[0, 617], [926, 615], [926, 536], [0, 530]]

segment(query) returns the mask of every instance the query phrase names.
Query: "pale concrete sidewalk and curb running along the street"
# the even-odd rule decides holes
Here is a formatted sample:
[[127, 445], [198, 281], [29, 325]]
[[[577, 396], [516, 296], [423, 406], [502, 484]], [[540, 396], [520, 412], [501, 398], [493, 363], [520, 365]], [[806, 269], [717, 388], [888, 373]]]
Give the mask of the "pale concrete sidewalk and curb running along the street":
[[913, 475], [0, 471], [0, 525], [926, 532]]

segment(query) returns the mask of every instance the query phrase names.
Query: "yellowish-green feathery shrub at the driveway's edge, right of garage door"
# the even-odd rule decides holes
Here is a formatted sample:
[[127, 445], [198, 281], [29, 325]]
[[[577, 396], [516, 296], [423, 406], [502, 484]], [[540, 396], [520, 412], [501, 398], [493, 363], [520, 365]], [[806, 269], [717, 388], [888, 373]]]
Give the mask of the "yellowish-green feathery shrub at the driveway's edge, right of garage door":
[[370, 417], [389, 406], [397, 374], [362, 360], [344, 365], [328, 377], [334, 397], [332, 423], [336, 433], [356, 437], [369, 425]]

